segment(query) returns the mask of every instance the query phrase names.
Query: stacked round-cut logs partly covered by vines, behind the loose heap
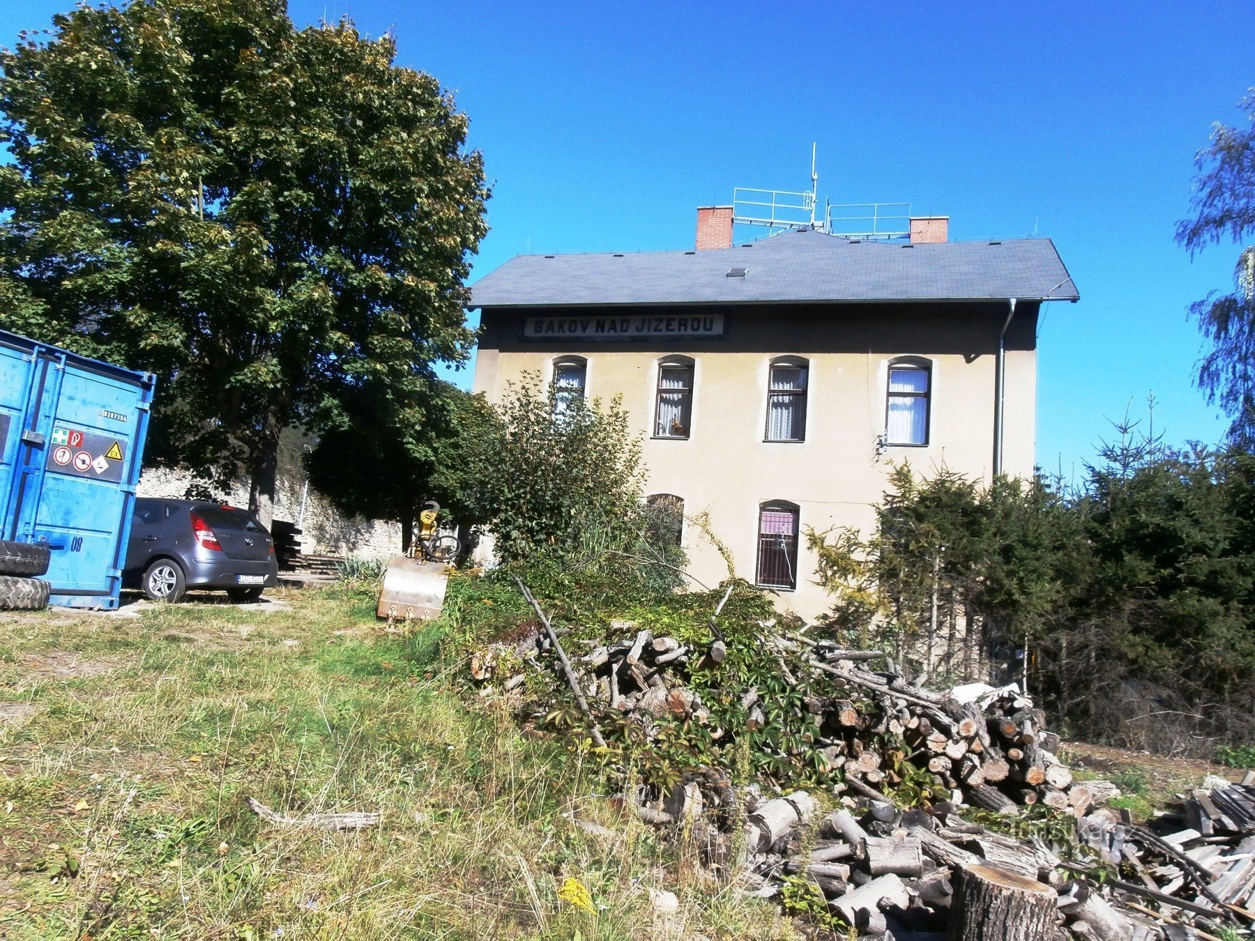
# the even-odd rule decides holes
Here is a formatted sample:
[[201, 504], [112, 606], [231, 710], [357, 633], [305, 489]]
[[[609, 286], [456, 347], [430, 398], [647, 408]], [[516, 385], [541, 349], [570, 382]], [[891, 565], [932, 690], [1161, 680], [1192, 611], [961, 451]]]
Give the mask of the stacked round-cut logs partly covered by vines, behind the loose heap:
[[[619, 626], [634, 629], [630, 622]], [[1045, 715], [1015, 686], [995, 690], [971, 684], [934, 693], [907, 684], [880, 651], [841, 650], [826, 641], [772, 634], [764, 635], [763, 646], [764, 656], [778, 659], [786, 679], [796, 683], [798, 673], [809, 671], [825, 680], [818, 685], [827, 695], [813, 698], [807, 708], [828, 768], [840, 768], [851, 787], [881, 793], [917, 768], [934, 775], [955, 803], [1003, 813], [1042, 803], [1077, 817], [1116, 793], [1106, 782], [1073, 779], [1055, 757], [1059, 736], [1047, 731]], [[705, 721], [709, 710], [688, 689], [688, 671], [709, 669], [723, 657], [719, 641], [693, 650], [674, 637], [640, 630], [597, 646], [576, 664], [590, 700], [639, 716], [648, 731], [650, 718]], [[858, 666], [875, 660], [886, 660], [886, 669]], [[740, 704], [747, 729], [766, 721], [757, 689], [745, 690]], [[904, 742], [907, 750], [886, 749], [884, 742]]]

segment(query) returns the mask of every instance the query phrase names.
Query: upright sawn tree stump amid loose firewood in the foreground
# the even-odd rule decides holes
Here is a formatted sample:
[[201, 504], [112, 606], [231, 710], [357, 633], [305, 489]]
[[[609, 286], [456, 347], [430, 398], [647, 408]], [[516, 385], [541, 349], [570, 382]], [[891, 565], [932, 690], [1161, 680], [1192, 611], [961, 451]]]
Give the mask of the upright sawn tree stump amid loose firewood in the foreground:
[[1057, 893], [1035, 880], [964, 866], [955, 885], [946, 941], [1040, 941], [1054, 933]]

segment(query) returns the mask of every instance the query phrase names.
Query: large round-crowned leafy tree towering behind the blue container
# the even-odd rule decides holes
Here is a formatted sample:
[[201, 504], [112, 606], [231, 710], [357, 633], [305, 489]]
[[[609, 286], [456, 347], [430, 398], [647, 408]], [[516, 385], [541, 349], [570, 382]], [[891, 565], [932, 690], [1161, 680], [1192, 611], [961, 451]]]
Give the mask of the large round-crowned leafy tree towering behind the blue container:
[[390, 36], [282, 0], [132, 0], [0, 50], [0, 319], [162, 379], [149, 453], [252, 482], [370, 389], [419, 414], [463, 358], [487, 189]]

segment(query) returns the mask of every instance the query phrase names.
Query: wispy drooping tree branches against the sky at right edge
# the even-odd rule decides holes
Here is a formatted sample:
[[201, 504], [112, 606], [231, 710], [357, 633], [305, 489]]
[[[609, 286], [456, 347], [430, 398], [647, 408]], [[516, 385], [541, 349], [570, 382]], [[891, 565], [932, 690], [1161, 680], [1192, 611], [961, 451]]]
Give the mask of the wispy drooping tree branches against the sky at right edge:
[[[1191, 252], [1225, 240], [1240, 245], [1255, 233], [1255, 89], [1240, 107], [1247, 125], [1216, 124], [1211, 144], [1196, 158], [1197, 215], [1177, 226], [1177, 241]], [[1230, 417], [1234, 439], [1250, 445], [1255, 443], [1255, 246], [1239, 255], [1234, 282], [1231, 292], [1212, 292], [1190, 312], [1211, 340], [1199, 385]]]

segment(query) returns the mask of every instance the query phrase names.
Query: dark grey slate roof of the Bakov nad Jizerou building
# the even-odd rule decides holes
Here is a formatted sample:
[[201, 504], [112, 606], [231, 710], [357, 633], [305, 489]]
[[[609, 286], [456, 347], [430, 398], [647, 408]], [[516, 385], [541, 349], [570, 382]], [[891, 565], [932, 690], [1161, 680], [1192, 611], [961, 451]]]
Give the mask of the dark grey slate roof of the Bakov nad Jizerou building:
[[472, 307], [1079, 297], [1049, 238], [910, 245], [812, 230], [700, 252], [518, 255], [471, 290]]

